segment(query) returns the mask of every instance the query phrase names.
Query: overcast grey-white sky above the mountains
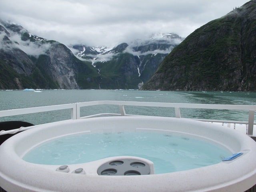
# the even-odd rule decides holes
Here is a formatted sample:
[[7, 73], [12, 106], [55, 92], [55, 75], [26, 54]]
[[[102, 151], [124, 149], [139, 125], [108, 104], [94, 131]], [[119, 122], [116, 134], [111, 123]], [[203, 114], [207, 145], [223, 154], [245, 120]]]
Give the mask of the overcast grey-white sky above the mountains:
[[0, 0], [0, 18], [66, 45], [116, 46], [152, 33], [186, 37], [249, 0]]

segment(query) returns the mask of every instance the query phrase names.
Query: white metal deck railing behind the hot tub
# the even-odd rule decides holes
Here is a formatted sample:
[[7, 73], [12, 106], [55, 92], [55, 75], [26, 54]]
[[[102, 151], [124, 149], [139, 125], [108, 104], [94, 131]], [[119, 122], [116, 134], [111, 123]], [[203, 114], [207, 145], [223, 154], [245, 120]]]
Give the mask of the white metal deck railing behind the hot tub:
[[[120, 109], [120, 114], [114, 113], [101, 113], [94, 114], [90, 116], [80, 117], [80, 108], [86, 106], [95, 106], [95, 105], [117, 105]], [[162, 102], [130, 102], [130, 101], [91, 101], [91, 102], [81, 102], [73, 104], [63, 104], [63, 105], [53, 105], [53, 106], [43, 106], [43, 107], [34, 107], [34, 108], [22, 108], [22, 109], [12, 109], [12, 110], [3, 110], [0, 111], [0, 117], [14, 116], [21, 114], [31, 114], [37, 112], [47, 112], [54, 110], [71, 110], [71, 119], [80, 119], [80, 118], [91, 118], [96, 116], [103, 115], [112, 115], [112, 116], [131, 116], [126, 114], [124, 106], [148, 106], [148, 107], [167, 107], [174, 108], [175, 117], [181, 118], [180, 108], [195, 108], [195, 109], [216, 109], [216, 110], [247, 110], [248, 111], [248, 121], [228, 121], [228, 120], [209, 120], [209, 119], [195, 119], [206, 122], [227, 122], [227, 123], [239, 123], [239, 124], [248, 124], [248, 135], [252, 136], [253, 127], [254, 127], [254, 114], [256, 111], [256, 105], [224, 105], [224, 104], [190, 104], [190, 103], [162, 103]], [[134, 115], [132, 115], [134, 116]], [[1, 134], [9, 134], [21, 130], [26, 130], [28, 128], [20, 128], [10, 131], [1, 131]]]

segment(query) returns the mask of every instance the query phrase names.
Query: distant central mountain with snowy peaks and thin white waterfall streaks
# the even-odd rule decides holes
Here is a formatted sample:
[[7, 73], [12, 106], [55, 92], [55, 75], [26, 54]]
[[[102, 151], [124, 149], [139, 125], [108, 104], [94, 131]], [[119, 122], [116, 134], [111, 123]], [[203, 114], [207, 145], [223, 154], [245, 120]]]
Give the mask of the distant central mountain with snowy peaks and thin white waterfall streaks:
[[74, 45], [72, 49], [76, 56], [97, 68], [102, 78], [101, 88], [138, 89], [182, 40], [184, 38], [176, 34], [158, 33], [114, 48]]

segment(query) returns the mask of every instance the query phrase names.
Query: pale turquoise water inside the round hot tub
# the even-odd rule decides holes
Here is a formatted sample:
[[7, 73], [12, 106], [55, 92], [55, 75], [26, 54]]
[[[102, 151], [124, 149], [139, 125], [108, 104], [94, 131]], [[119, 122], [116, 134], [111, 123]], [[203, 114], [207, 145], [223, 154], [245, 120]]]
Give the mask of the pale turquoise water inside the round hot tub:
[[219, 144], [186, 134], [117, 132], [53, 139], [32, 148], [23, 159], [36, 164], [61, 165], [112, 156], [137, 156], [154, 162], [155, 173], [160, 174], [217, 164], [231, 154]]

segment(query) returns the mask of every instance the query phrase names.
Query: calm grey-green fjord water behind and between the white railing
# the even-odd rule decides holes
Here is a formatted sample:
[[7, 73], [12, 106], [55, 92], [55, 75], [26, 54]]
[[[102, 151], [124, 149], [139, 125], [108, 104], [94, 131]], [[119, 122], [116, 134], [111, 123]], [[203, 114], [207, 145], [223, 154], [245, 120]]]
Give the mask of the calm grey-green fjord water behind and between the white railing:
[[[42, 92], [11, 90], [0, 91], [0, 110], [68, 104], [96, 100], [120, 100], [140, 102], [174, 102], [200, 104], [255, 105], [256, 92], [178, 92], [139, 90], [42, 90]], [[174, 117], [173, 108], [148, 108], [126, 106], [126, 114]], [[84, 107], [81, 116], [112, 112], [119, 113], [117, 106]], [[248, 120], [247, 111], [181, 109], [184, 118], [219, 120]], [[0, 118], [0, 121], [23, 120], [33, 124], [54, 122], [70, 118], [70, 110], [27, 114]]]

